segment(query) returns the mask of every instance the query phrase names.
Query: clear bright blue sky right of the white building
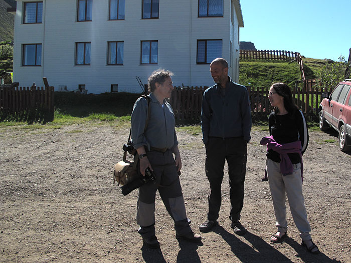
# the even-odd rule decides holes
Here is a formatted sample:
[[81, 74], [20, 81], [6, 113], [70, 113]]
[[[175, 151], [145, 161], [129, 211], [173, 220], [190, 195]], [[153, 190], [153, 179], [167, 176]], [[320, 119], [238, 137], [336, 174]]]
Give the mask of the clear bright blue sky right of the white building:
[[241, 0], [240, 41], [257, 50], [287, 50], [313, 59], [347, 60], [350, 0]]

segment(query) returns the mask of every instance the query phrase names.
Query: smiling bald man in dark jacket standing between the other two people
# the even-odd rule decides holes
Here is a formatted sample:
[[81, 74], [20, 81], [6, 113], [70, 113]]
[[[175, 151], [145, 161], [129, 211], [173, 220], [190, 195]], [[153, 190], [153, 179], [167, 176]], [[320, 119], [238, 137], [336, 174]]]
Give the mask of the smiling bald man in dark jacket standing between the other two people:
[[246, 229], [239, 219], [244, 203], [246, 144], [251, 139], [250, 101], [247, 89], [228, 77], [225, 59], [212, 61], [210, 72], [216, 85], [204, 92], [201, 128], [206, 147], [206, 176], [211, 190], [207, 220], [199, 228], [201, 232], [208, 232], [218, 224], [223, 169], [227, 160], [231, 202], [229, 219], [234, 232], [242, 235]]

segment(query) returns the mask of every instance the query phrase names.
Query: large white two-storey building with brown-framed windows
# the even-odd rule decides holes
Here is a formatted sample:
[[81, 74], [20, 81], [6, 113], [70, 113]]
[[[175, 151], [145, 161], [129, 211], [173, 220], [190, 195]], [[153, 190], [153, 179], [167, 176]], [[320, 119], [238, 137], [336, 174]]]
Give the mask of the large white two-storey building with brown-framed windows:
[[217, 57], [238, 82], [243, 26], [240, 0], [18, 0], [14, 82], [139, 93], [135, 76], [163, 68], [174, 86], [212, 86]]

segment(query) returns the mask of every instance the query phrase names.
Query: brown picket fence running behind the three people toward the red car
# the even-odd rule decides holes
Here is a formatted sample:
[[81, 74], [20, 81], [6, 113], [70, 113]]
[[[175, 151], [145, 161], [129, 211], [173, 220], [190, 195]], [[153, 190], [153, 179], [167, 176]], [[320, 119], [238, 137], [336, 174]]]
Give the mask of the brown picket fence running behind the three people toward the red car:
[[[305, 80], [303, 88], [294, 87], [291, 90], [295, 104], [306, 116], [318, 113], [319, 103], [322, 100], [321, 94], [332, 91], [332, 88], [329, 90], [319, 90], [317, 87], [314, 87], [315, 84], [315, 79]], [[200, 120], [202, 96], [207, 88], [175, 87], [169, 101], [173, 108], [175, 119], [178, 121]], [[269, 88], [247, 87], [253, 116], [266, 118], [272, 111], [272, 106], [268, 100]]]

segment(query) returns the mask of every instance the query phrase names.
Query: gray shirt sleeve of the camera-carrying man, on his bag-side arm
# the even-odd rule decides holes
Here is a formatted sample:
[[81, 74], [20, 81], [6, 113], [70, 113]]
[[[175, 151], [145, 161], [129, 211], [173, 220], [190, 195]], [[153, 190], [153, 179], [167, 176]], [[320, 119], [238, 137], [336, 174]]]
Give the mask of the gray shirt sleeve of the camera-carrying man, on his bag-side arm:
[[133, 106], [131, 115], [131, 136], [135, 149], [138, 149], [143, 145], [148, 145], [144, 135], [146, 119], [147, 101], [145, 98], [139, 98]]

